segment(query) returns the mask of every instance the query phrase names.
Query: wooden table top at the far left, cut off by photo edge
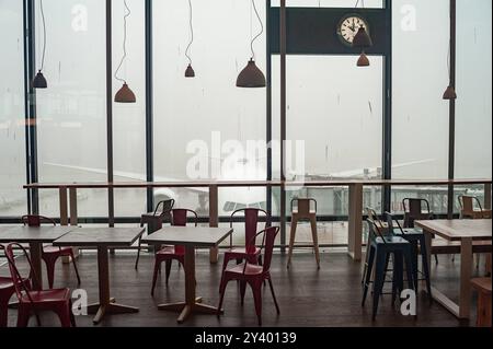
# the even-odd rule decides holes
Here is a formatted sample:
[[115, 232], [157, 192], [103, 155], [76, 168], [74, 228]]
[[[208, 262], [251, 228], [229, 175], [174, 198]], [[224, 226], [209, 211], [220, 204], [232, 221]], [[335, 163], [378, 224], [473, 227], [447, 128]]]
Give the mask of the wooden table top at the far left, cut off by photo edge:
[[42, 226], [10, 226], [0, 229], [0, 243], [53, 243], [77, 226], [42, 225]]

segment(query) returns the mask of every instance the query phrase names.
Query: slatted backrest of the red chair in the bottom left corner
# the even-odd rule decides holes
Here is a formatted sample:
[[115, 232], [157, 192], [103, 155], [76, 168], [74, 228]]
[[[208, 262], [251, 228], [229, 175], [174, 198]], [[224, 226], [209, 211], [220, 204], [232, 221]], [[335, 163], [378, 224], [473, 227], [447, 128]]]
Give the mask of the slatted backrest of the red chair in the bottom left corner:
[[[15, 256], [13, 253], [14, 248], [19, 248], [22, 251], [22, 253], [24, 254], [24, 258], [26, 258], [27, 260], [27, 265], [30, 267], [30, 274], [27, 276], [27, 278], [23, 278], [21, 272], [19, 271], [16, 265], [15, 265]], [[18, 296], [18, 300], [21, 302], [23, 300], [24, 295], [27, 295], [27, 299], [30, 300], [30, 302], [33, 302], [33, 299], [31, 298], [31, 294], [28, 291], [31, 291], [31, 287], [30, 283], [33, 283], [33, 279], [35, 279], [36, 281], [39, 281], [38, 276], [35, 274], [34, 268], [33, 268], [33, 264], [31, 261], [31, 258], [27, 254], [27, 252], [25, 251], [25, 248], [18, 244], [18, 243], [11, 243], [7, 246], [7, 248], [4, 248], [5, 252], [5, 256], [7, 256], [7, 261], [9, 263], [9, 269], [10, 269], [10, 275], [12, 278], [12, 282], [14, 284], [14, 289], [15, 289], [15, 295]], [[38, 282], [39, 283], [39, 282]]]

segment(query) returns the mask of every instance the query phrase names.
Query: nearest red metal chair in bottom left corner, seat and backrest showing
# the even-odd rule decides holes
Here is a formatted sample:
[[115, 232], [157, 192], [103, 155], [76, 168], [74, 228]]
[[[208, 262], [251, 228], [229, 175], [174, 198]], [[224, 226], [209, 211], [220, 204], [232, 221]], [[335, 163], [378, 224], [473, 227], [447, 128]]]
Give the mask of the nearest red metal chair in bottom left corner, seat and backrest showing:
[[[27, 264], [30, 266], [30, 275], [23, 279], [18, 267], [15, 266], [15, 258], [13, 248], [19, 248], [23, 252]], [[9, 261], [10, 274], [15, 288], [15, 294], [19, 300], [18, 305], [18, 327], [27, 327], [31, 315], [34, 313], [38, 325], [41, 325], [38, 312], [51, 311], [60, 318], [62, 327], [76, 327], [76, 318], [72, 313], [72, 301], [69, 289], [49, 289], [33, 291], [31, 290], [31, 280], [37, 279], [34, 272], [31, 258], [27, 252], [20, 244], [13, 243], [7, 246], [7, 260]]]

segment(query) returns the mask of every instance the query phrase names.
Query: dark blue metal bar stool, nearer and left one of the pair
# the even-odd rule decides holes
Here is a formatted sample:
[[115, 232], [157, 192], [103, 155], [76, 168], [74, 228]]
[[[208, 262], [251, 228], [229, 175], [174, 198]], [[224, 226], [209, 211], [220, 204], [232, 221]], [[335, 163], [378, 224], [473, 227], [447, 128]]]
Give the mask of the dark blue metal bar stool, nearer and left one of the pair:
[[413, 274], [411, 271], [411, 244], [402, 237], [393, 236], [393, 234], [388, 236], [381, 234], [376, 223], [370, 219], [367, 220], [367, 223], [369, 233], [372, 234], [372, 237], [369, 246], [368, 270], [366, 272], [366, 280], [363, 289], [362, 306], [365, 306], [368, 288], [371, 282], [371, 272], [375, 265], [375, 281], [372, 290], [372, 319], [375, 319], [377, 316], [380, 295], [383, 290], [386, 264], [390, 255], [393, 256], [392, 305], [395, 303], [397, 295], [404, 289], [404, 263], [409, 288], [412, 290], [414, 290], [414, 281]]

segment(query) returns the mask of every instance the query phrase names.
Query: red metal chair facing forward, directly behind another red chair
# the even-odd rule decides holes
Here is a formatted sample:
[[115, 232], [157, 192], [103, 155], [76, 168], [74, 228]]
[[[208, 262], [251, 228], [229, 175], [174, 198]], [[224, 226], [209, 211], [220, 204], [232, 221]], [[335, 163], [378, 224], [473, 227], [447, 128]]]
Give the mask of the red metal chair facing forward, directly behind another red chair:
[[[244, 247], [233, 247], [232, 245], [232, 234], [230, 235], [230, 248], [225, 252], [225, 260], [222, 263], [222, 271], [228, 267], [228, 263], [231, 259], [237, 259], [237, 264], [241, 264], [243, 260], [248, 260], [251, 264], [262, 265], [261, 248], [256, 247], [255, 236], [259, 225], [259, 213], [264, 213], [266, 217], [265, 228], [268, 226], [268, 213], [262, 209], [246, 208], [239, 209], [231, 213], [229, 225], [232, 228], [233, 218], [236, 214], [243, 212], [244, 214]], [[265, 229], [264, 228], [264, 229]], [[263, 242], [262, 242], [263, 243]]]

